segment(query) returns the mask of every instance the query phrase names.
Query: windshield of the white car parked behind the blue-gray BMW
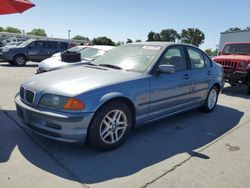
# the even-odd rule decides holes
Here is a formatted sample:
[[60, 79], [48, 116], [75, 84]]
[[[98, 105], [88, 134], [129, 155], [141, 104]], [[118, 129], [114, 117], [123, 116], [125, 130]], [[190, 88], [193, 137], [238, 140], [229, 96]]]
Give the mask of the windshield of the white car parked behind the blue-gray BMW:
[[100, 49], [96, 49], [96, 48], [84, 48], [83, 50], [80, 51], [81, 53], [81, 59], [82, 60], [90, 60], [93, 61], [96, 58], [102, 56], [105, 51], [104, 50], [100, 50]]

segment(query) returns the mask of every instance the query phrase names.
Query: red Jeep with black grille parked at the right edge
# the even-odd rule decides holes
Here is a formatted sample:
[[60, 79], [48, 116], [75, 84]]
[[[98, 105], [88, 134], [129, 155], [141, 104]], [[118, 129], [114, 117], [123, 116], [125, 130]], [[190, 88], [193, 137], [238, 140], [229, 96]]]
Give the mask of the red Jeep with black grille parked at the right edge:
[[250, 42], [226, 43], [213, 60], [223, 66], [225, 80], [231, 86], [246, 84], [250, 95]]

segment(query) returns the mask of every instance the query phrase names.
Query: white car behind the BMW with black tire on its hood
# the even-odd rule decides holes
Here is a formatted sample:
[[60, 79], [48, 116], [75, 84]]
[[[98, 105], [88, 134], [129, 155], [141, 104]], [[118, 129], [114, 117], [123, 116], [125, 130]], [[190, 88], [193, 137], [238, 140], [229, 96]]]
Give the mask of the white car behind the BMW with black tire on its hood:
[[53, 71], [57, 69], [81, 65], [89, 63], [98, 57], [102, 56], [107, 51], [114, 48], [114, 46], [94, 45], [94, 46], [74, 46], [66, 51], [66, 53], [80, 54], [80, 61], [65, 62], [62, 61], [61, 54], [56, 53], [48, 59], [41, 61], [38, 65], [37, 74]]

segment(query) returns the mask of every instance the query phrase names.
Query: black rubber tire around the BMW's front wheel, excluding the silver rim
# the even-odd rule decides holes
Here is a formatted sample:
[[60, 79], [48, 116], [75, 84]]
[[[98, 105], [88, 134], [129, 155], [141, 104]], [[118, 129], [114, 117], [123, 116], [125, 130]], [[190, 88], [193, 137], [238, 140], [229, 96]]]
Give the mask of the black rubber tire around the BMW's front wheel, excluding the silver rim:
[[[123, 111], [126, 115], [128, 125], [127, 125], [127, 128], [126, 128], [122, 138], [118, 142], [116, 142], [114, 144], [107, 144], [107, 143], [103, 142], [103, 140], [101, 139], [99, 130], [100, 130], [100, 126], [101, 126], [101, 123], [103, 121], [103, 118], [109, 112], [111, 112], [113, 110]], [[103, 107], [101, 107], [101, 109], [95, 113], [95, 115], [92, 119], [92, 122], [90, 124], [89, 130], [88, 130], [87, 141], [92, 147], [97, 148], [97, 149], [101, 149], [101, 150], [115, 149], [118, 146], [120, 146], [125, 141], [127, 136], [129, 135], [129, 133], [131, 131], [131, 127], [132, 127], [132, 122], [133, 122], [132, 113], [126, 104], [119, 102], [119, 101], [108, 103], [108, 104], [104, 105]]]

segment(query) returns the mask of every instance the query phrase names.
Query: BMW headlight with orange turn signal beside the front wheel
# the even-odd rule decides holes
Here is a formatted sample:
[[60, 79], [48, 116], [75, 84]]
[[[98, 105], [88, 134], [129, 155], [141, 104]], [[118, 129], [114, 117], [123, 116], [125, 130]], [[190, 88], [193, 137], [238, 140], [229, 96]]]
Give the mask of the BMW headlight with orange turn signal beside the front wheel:
[[45, 94], [42, 96], [39, 106], [55, 108], [59, 110], [83, 110], [84, 103], [76, 98], [60, 95]]

